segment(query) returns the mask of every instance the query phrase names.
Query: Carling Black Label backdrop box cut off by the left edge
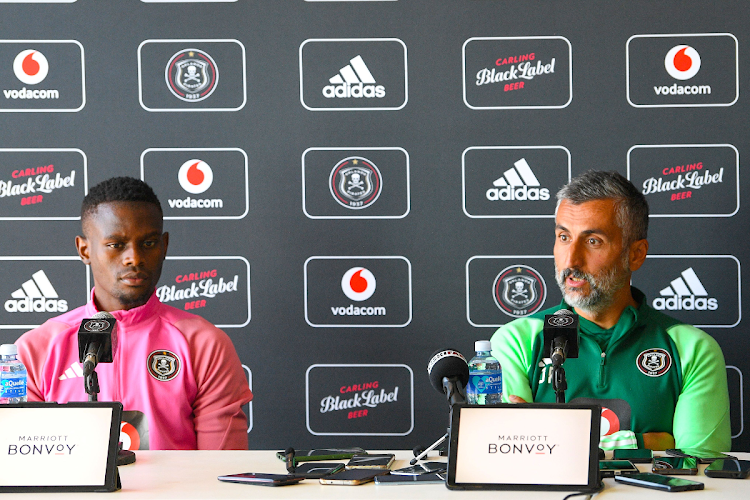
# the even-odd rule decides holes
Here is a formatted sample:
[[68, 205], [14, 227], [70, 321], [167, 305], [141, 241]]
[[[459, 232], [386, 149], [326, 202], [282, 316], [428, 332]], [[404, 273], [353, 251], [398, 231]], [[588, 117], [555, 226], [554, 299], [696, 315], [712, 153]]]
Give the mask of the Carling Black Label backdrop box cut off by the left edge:
[[0, 220], [78, 220], [86, 180], [80, 149], [0, 149]]

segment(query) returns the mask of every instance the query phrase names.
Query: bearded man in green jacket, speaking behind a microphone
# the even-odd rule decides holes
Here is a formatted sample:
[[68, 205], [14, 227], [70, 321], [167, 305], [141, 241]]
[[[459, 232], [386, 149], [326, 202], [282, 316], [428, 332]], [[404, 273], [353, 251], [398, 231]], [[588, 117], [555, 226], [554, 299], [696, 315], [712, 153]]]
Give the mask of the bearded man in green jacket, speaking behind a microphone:
[[492, 336], [504, 399], [555, 401], [545, 314], [580, 316], [566, 401], [602, 406], [601, 447], [731, 447], [724, 356], [705, 332], [652, 309], [630, 276], [648, 253], [648, 203], [617, 172], [590, 171], [557, 193], [555, 278], [563, 302]]

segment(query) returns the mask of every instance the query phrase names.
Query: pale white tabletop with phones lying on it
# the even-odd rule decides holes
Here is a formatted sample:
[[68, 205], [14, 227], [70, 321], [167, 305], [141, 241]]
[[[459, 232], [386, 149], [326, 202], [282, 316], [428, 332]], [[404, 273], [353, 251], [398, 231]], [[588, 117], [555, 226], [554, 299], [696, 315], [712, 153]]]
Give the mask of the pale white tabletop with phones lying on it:
[[[396, 451], [393, 468], [404, 467], [412, 458], [411, 451]], [[750, 453], [734, 453], [738, 458], [750, 460]], [[442, 459], [444, 460], [444, 458]], [[648, 465], [639, 464], [646, 470]], [[750, 498], [750, 478], [717, 479], [703, 475], [705, 466], [700, 467], [696, 481], [705, 483], [703, 491], [680, 493], [682, 500], [731, 500]], [[409, 499], [409, 500], [498, 500], [502, 498], [534, 500], [562, 498], [567, 492], [546, 491], [451, 491], [443, 484], [379, 486], [368, 483], [361, 486], [321, 485], [317, 480], [305, 480], [300, 484], [283, 487], [248, 486], [244, 484], [222, 483], [219, 475], [240, 472], [286, 472], [284, 463], [276, 458], [273, 451], [139, 451], [133, 465], [120, 467], [122, 490], [115, 493], [18, 493], [4, 494], [3, 500], [126, 500], [126, 499], [274, 499], [274, 500], [351, 500], [351, 499]], [[690, 476], [687, 479], [691, 479]], [[614, 479], [604, 480], [604, 491], [597, 500], [662, 499], [669, 493], [636, 488], [615, 483]], [[586, 497], [576, 497], [586, 498]]]

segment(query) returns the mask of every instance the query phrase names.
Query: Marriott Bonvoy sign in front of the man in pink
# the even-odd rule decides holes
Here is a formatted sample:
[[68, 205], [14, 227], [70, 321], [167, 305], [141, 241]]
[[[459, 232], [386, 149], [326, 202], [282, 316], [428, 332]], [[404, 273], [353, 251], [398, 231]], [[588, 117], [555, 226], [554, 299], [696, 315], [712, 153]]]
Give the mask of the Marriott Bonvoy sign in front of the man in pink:
[[121, 403], [0, 405], [0, 493], [115, 491]]

